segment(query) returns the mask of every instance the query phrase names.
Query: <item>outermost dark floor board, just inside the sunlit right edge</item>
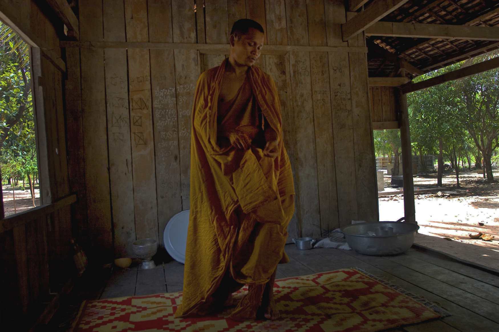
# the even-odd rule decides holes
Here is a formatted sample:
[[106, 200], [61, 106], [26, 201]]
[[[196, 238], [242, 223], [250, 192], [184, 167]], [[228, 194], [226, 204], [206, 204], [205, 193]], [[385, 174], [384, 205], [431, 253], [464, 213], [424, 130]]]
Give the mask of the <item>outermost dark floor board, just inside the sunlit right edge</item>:
[[499, 287], [499, 277], [493, 273], [482, 271], [482, 270], [476, 269], [472, 266], [464, 265], [460, 262], [446, 260], [446, 259], [443, 259], [440, 257], [429, 255], [429, 254], [422, 252], [422, 251], [419, 251], [419, 250], [406, 252], [406, 254], [411, 256], [411, 257], [415, 257], [417, 259], [424, 260], [426, 262], [441, 266], [441, 267], [446, 268], [448, 270], [460, 273], [460, 274], [465, 275], [467, 277], [479, 280], [479, 281], [487, 283], [489, 285]]

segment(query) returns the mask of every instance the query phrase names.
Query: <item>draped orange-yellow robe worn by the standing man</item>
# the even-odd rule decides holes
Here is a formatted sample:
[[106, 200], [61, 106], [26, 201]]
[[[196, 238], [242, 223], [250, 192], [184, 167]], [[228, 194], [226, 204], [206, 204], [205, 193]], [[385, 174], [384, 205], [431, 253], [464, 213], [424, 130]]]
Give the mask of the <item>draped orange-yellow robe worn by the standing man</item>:
[[[237, 95], [218, 105], [226, 65], [202, 73], [196, 87], [184, 293], [176, 317], [207, 315], [228, 293], [267, 283], [277, 264], [289, 261], [284, 244], [294, 185], [277, 90], [253, 66]], [[246, 151], [221, 141], [221, 132], [240, 126], [271, 126], [279, 138], [277, 157], [264, 157], [256, 139]]]

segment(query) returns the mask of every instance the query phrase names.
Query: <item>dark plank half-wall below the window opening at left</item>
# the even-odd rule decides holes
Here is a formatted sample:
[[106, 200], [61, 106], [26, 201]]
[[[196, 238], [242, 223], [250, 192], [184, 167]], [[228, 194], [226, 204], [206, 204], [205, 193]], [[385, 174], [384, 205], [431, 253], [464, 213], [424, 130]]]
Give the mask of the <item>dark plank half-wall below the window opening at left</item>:
[[[71, 194], [0, 220], [0, 324], [27, 331], [74, 275], [71, 260]], [[2, 330], [3, 331], [3, 330]]]

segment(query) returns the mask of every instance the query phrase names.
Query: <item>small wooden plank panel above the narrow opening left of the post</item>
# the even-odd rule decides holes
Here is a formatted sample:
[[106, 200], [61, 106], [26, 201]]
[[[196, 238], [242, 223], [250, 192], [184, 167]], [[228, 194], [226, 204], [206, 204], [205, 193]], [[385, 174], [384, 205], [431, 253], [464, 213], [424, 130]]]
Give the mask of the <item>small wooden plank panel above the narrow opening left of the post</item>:
[[389, 86], [369, 87], [372, 122], [398, 121], [395, 104], [395, 88]]

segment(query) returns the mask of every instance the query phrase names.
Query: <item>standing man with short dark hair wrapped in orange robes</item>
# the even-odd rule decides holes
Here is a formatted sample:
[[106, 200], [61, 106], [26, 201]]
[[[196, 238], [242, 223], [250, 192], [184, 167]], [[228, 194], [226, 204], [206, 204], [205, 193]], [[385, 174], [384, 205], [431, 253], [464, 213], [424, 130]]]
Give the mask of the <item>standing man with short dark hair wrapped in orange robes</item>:
[[[234, 23], [230, 56], [198, 79], [192, 112], [191, 206], [184, 293], [176, 317], [233, 308], [277, 319], [273, 285], [294, 212], [291, 166], [272, 78], [255, 66], [263, 28]], [[248, 285], [237, 303], [232, 293]]]

